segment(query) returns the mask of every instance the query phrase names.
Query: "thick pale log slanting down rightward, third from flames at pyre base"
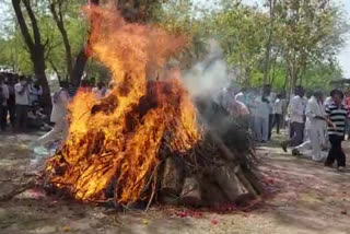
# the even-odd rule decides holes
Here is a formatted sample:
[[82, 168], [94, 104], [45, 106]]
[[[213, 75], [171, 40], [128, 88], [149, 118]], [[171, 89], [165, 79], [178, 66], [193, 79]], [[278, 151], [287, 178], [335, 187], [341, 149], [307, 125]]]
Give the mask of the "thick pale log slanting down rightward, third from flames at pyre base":
[[236, 202], [249, 196], [248, 189], [243, 185], [232, 166], [217, 167], [213, 172], [214, 179], [229, 201]]

